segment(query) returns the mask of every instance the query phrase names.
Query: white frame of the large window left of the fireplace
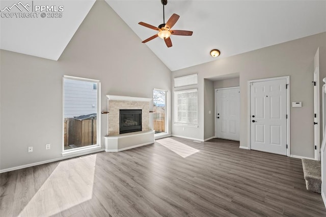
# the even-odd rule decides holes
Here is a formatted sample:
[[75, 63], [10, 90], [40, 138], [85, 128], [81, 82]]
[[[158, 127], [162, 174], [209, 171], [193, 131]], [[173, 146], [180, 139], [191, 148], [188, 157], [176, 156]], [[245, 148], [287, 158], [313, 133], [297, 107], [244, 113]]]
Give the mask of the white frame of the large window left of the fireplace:
[[[84, 147], [78, 147], [73, 149], [64, 149], [64, 120], [65, 120], [65, 91], [64, 91], [64, 82], [65, 79], [71, 79], [71, 80], [80, 80], [83, 82], [92, 82], [97, 84], [97, 109], [96, 109], [96, 144], [84, 146]], [[69, 156], [69, 155], [75, 155], [80, 153], [92, 153], [96, 152], [99, 149], [102, 149], [101, 147], [101, 83], [99, 80], [96, 79], [90, 79], [90, 78], [83, 78], [83, 77], [75, 77], [75, 76], [69, 76], [64, 75], [62, 78], [62, 156]]]

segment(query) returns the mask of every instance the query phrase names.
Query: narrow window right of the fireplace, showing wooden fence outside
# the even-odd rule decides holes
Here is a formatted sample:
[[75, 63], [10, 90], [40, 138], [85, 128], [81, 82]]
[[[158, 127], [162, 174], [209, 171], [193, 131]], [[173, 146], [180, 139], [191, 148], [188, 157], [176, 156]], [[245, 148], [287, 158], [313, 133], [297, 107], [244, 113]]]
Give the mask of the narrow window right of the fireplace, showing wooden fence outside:
[[153, 119], [155, 134], [167, 132], [166, 122], [166, 102], [167, 91], [166, 90], [153, 90]]

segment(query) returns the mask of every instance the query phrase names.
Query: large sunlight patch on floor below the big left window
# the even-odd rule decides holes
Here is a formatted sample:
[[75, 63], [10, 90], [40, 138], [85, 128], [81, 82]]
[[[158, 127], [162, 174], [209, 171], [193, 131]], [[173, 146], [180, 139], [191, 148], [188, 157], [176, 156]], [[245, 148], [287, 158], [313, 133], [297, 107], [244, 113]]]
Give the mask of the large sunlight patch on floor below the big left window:
[[19, 216], [51, 216], [92, 199], [96, 154], [59, 163]]

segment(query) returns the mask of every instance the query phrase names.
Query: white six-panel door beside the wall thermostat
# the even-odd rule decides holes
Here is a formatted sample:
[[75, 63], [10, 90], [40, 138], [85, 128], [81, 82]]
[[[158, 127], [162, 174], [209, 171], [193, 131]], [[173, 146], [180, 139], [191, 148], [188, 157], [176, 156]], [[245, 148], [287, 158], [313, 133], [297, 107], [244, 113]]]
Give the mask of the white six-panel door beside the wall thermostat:
[[285, 78], [251, 83], [251, 149], [287, 154], [286, 87]]

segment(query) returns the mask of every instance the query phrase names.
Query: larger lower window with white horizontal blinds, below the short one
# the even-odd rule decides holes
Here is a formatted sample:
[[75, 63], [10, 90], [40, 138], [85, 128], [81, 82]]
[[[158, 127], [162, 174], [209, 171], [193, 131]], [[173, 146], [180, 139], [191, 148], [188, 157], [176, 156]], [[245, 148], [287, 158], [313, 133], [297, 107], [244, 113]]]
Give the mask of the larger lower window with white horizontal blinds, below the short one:
[[197, 89], [174, 92], [174, 122], [189, 126], [198, 126]]

